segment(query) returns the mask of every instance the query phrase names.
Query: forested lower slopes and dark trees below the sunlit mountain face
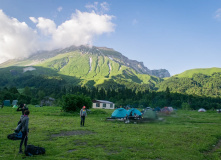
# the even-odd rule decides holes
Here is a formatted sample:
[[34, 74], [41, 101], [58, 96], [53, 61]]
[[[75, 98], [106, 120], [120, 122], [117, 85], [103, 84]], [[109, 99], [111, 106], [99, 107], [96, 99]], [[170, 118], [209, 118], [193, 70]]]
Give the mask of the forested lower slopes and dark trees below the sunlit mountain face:
[[59, 105], [62, 95], [83, 94], [91, 100], [113, 101], [118, 107], [221, 108], [221, 72], [211, 75], [195, 73], [192, 77], [173, 76], [166, 80], [153, 76], [146, 79], [146, 75], [140, 75], [149, 84], [135, 83], [119, 74], [121, 78], [106, 79], [96, 86], [93, 86], [93, 80], [83, 84], [80, 77], [59, 74], [54, 69], [40, 66], [2, 68], [0, 73], [1, 101], [18, 99], [22, 103], [40, 104], [44, 97], [49, 96]]

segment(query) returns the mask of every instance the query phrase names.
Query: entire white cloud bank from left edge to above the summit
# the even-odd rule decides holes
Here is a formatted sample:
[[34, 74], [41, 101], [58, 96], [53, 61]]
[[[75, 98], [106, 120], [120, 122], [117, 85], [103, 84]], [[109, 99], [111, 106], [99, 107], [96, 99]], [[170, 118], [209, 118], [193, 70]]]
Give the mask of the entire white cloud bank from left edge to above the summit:
[[94, 11], [76, 10], [69, 20], [57, 26], [51, 19], [29, 17], [36, 24], [34, 30], [0, 10], [0, 63], [28, 57], [38, 50], [92, 45], [94, 37], [114, 32], [113, 18]]

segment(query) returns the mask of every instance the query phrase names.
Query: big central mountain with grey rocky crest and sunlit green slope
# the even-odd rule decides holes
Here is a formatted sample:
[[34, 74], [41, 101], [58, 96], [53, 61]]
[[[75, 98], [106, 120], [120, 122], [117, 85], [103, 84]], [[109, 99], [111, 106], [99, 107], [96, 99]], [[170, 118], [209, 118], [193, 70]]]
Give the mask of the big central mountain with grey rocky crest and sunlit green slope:
[[0, 68], [2, 75], [10, 72], [8, 76], [14, 83], [16, 78], [32, 75], [33, 79], [45, 76], [75, 85], [154, 88], [161, 78], [170, 76], [165, 69], [149, 70], [142, 62], [130, 60], [113, 49], [87, 46], [41, 51], [26, 59], [7, 61]]

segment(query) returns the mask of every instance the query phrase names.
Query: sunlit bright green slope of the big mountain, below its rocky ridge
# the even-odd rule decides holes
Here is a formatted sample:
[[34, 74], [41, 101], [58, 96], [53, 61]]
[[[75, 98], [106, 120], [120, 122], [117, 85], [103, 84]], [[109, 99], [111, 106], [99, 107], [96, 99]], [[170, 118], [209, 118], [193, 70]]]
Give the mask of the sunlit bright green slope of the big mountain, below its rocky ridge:
[[151, 78], [147, 74], [139, 74], [134, 69], [121, 65], [107, 56], [82, 54], [78, 51], [59, 54], [37, 66], [54, 69], [60, 75], [79, 78], [82, 84], [94, 81], [95, 86], [110, 79], [123, 79], [138, 84], [155, 83], [155, 80], [159, 79]]

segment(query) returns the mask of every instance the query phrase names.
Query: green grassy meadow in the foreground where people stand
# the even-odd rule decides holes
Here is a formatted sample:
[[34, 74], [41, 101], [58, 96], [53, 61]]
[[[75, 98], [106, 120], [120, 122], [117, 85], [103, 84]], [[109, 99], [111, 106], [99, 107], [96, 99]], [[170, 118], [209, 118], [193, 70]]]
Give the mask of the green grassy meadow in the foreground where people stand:
[[[125, 124], [106, 121], [113, 110], [92, 110], [80, 127], [78, 113], [60, 107], [30, 110], [28, 144], [44, 147], [45, 155], [18, 154], [20, 140], [9, 140], [21, 112], [0, 109], [0, 159], [2, 160], [219, 160], [221, 114], [215, 111], [178, 110], [164, 120]], [[23, 146], [24, 149], [24, 146]]]

